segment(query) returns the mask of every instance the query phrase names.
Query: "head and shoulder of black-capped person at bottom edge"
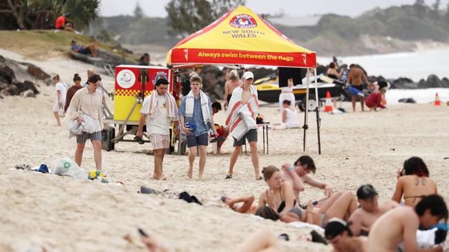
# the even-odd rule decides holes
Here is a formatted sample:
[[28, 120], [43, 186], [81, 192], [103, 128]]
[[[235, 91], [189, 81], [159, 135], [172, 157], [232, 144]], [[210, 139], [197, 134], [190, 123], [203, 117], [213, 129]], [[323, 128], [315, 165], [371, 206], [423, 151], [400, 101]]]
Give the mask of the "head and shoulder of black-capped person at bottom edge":
[[350, 222], [340, 218], [332, 218], [327, 222], [325, 238], [332, 244], [334, 252], [365, 252], [368, 251], [367, 237], [354, 237]]

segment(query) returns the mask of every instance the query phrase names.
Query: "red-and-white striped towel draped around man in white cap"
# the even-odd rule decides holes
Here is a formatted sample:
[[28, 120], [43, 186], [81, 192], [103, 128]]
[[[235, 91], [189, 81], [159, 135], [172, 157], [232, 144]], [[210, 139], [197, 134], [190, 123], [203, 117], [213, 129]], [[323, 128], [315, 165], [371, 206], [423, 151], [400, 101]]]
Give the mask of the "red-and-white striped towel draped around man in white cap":
[[242, 103], [242, 86], [237, 87], [229, 101], [228, 110], [226, 112], [226, 125], [231, 132], [231, 136], [240, 140], [249, 129], [256, 129], [256, 116], [259, 114], [259, 102], [256, 87], [249, 87], [251, 97], [247, 103]]

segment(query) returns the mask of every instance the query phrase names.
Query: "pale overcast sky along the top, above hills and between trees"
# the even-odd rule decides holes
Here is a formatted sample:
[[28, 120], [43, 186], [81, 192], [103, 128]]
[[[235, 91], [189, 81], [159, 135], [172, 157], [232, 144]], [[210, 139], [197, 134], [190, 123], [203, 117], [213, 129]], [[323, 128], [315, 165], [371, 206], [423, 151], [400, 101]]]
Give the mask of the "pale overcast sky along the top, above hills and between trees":
[[[166, 17], [165, 6], [169, 0], [102, 0], [100, 14], [104, 17], [116, 15], [133, 15], [137, 1], [140, 3], [144, 14], [148, 17]], [[356, 17], [367, 10], [380, 7], [401, 6], [413, 4], [416, 0], [247, 0], [247, 8], [261, 14], [277, 14], [284, 12], [292, 17], [305, 17], [313, 14], [335, 13]], [[446, 10], [449, 0], [441, 1], [441, 9]], [[276, 4], [273, 4], [276, 2]], [[301, 5], [303, 3], [303, 5]], [[426, 0], [432, 5], [434, 0]]]

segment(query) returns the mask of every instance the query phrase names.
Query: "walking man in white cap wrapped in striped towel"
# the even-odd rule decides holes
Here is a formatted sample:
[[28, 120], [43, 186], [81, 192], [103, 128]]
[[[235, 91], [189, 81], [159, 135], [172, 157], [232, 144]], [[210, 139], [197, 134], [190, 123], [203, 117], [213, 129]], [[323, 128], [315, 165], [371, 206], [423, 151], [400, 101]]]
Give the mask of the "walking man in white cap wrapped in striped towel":
[[234, 138], [234, 151], [231, 154], [226, 179], [232, 178], [234, 165], [236, 165], [238, 155], [242, 152], [242, 145], [245, 145], [245, 141], [248, 140], [256, 180], [262, 180], [259, 173], [257, 151], [256, 117], [258, 116], [259, 103], [256, 87], [251, 85], [254, 81], [253, 73], [245, 72], [242, 81], [242, 85], [232, 92], [226, 114], [226, 125]]

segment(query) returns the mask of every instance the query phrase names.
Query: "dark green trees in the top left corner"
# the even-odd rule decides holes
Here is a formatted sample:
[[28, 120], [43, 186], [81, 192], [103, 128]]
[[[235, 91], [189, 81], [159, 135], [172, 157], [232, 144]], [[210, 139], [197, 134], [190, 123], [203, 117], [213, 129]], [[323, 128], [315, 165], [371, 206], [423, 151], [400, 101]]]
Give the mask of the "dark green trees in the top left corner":
[[68, 13], [75, 28], [82, 29], [98, 17], [99, 0], [0, 0], [0, 29], [48, 29]]

